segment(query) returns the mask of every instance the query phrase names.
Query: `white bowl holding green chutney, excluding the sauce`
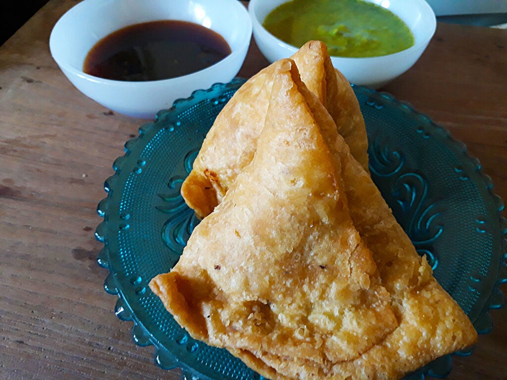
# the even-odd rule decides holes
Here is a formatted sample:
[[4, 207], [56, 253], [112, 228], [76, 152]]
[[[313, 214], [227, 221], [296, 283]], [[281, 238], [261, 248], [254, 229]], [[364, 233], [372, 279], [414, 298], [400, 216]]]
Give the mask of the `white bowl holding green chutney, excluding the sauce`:
[[[419, 59], [431, 40], [437, 20], [431, 7], [424, 0], [365, 0], [384, 7], [400, 17], [414, 34], [414, 45], [398, 53], [379, 57], [348, 58], [331, 57], [333, 65], [349, 82], [356, 85], [379, 88], [407, 71]], [[268, 32], [262, 23], [266, 16], [287, 0], [250, 0], [249, 13], [253, 25], [253, 37], [262, 54], [274, 62], [291, 56], [297, 48], [286, 44]]]

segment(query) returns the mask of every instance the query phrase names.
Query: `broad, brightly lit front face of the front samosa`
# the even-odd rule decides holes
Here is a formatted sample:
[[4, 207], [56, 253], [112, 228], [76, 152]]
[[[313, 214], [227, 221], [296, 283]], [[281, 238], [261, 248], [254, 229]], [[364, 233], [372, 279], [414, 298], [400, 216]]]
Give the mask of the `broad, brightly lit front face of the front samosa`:
[[324, 368], [379, 344], [397, 320], [293, 77], [292, 61], [277, 63], [255, 158], [151, 285], [195, 338], [246, 361], [265, 352]]

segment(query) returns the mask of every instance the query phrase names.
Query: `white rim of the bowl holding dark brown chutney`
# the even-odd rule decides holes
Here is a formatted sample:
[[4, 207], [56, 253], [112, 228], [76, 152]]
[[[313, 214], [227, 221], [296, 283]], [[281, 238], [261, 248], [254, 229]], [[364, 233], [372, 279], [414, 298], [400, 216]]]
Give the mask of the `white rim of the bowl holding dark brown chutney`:
[[[78, 69], [74, 65], [71, 65], [71, 64], [63, 61], [61, 59], [61, 56], [59, 55], [59, 50], [55, 46], [55, 44], [56, 44], [56, 42], [55, 42], [56, 35], [57, 35], [57, 33], [61, 32], [60, 29], [62, 28], [62, 26], [61, 26], [62, 23], [63, 23], [62, 20], [64, 20], [65, 18], [69, 17], [73, 13], [80, 12], [81, 8], [90, 6], [90, 4], [93, 3], [94, 1], [97, 1], [97, 0], [84, 0], [81, 3], [78, 3], [75, 6], [73, 6], [72, 8], [70, 8], [69, 10], [67, 10], [58, 19], [58, 21], [54, 24], [54, 26], [53, 26], [53, 28], [51, 30], [51, 34], [49, 36], [49, 50], [51, 52], [51, 56], [55, 60], [55, 62], [58, 64], [58, 66], [60, 67], [60, 69], [62, 71], [64, 71], [65, 73], [68, 73], [69, 75], [72, 75], [73, 77], [78, 77], [78, 78], [80, 78], [82, 80], [85, 80], [85, 81], [88, 81], [88, 82], [108, 85], [110, 87], [132, 87], [132, 86], [136, 86], [136, 87], [139, 87], [139, 86], [141, 86], [141, 87], [151, 87], [153, 85], [159, 85], [159, 84], [168, 83], [169, 81], [171, 81], [172, 83], [175, 83], [175, 84], [177, 84], [177, 83], [183, 83], [183, 82], [186, 82], [187, 80], [189, 80], [191, 77], [193, 77], [197, 73], [201, 74], [201, 73], [204, 73], [205, 71], [214, 70], [214, 69], [216, 69], [216, 67], [218, 65], [227, 63], [228, 61], [231, 61], [232, 59], [236, 58], [236, 56], [242, 55], [243, 50], [245, 48], [247, 49], [248, 46], [249, 46], [249, 44], [250, 44], [251, 35], [252, 35], [252, 28], [253, 27], [252, 27], [251, 17], [249, 16], [247, 9], [239, 1], [236, 1], [236, 0], [222, 0], [224, 2], [229, 2], [230, 3], [230, 6], [228, 6], [229, 7], [228, 11], [230, 13], [232, 13], [234, 11], [236, 17], [243, 16], [243, 18], [244, 18], [244, 24], [242, 25], [242, 27], [246, 28], [244, 41], [241, 40], [241, 46], [239, 48], [235, 49], [235, 50], [233, 50], [231, 48], [231, 53], [228, 56], [226, 56], [224, 59], [222, 59], [222, 60], [220, 60], [220, 61], [212, 64], [211, 66], [205, 67], [205, 68], [203, 68], [201, 70], [198, 70], [198, 71], [193, 71], [193, 72], [191, 72], [189, 74], [180, 75], [179, 77], [173, 77], [173, 78], [167, 78], [167, 79], [159, 79], [159, 80], [155, 80], [155, 81], [118, 81], [118, 80], [113, 80], [113, 79], [105, 79], [105, 78], [96, 77], [95, 75], [91, 75], [91, 74], [88, 74], [88, 73], [84, 72], [83, 69]], [[143, 4], [143, 0], [137, 0], [137, 1], [139, 3], [141, 3], [141, 4]], [[178, 1], [180, 1], [180, 0], [178, 0]], [[192, 1], [190, 1], [190, 2], [192, 2]], [[177, 21], [178, 19], [159, 18], [158, 20], [176, 20]], [[157, 20], [153, 20], [153, 21], [157, 21]], [[143, 23], [143, 22], [144, 21], [140, 21], [138, 23]], [[135, 25], [135, 24], [137, 24], [137, 22], [129, 23], [129, 24], [125, 25], [124, 27], [130, 26], [130, 25]], [[202, 25], [202, 26], [204, 26], [204, 25]], [[206, 27], [206, 26], [204, 26], [204, 27]], [[210, 29], [210, 30], [213, 30], [212, 28], [209, 28], [209, 27], [207, 27], [207, 28]], [[116, 30], [119, 30], [119, 29], [116, 29]], [[100, 41], [102, 38], [106, 37], [107, 35], [104, 35], [103, 37], [100, 37], [100, 39], [98, 41]]]

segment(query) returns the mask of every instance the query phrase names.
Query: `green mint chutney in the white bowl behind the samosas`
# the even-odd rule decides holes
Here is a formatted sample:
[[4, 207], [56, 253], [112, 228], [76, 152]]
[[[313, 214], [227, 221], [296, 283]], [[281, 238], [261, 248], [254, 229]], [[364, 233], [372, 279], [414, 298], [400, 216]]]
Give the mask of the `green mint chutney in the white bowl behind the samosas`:
[[320, 40], [330, 55], [340, 57], [375, 57], [414, 45], [399, 17], [362, 0], [292, 0], [271, 11], [263, 26], [298, 48]]

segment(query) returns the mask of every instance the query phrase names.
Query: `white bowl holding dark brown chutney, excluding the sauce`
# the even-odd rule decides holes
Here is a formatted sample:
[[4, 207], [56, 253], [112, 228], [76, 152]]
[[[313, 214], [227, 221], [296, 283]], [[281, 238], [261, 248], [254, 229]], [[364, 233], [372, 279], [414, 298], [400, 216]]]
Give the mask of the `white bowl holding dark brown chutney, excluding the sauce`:
[[[169, 19], [210, 28], [224, 37], [232, 53], [203, 70], [160, 81], [113, 81], [83, 72], [89, 50], [106, 35], [131, 24]], [[151, 119], [194, 90], [230, 82], [243, 64], [250, 39], [250, 17], [237, 0], [84, 0], [55, 24], [49, 47], [83, 94], [113, 111]]]

